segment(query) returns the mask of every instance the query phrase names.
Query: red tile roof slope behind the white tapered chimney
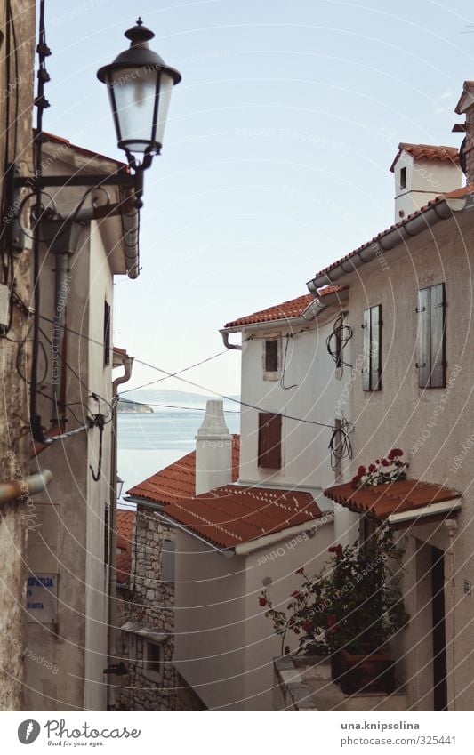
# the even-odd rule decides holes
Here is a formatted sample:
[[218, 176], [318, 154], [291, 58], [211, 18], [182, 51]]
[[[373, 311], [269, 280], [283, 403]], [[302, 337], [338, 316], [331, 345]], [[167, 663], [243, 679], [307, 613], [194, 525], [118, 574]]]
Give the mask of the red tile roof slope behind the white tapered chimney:
[[[232, 436], [232, 481], [238, 478], [240, 437]], [[155, 503], [174, 503], [186, 500], [196, 492], [196, 451], [182, 456], [164, 470], [157, 472], [127, 490], [128, 495]]]

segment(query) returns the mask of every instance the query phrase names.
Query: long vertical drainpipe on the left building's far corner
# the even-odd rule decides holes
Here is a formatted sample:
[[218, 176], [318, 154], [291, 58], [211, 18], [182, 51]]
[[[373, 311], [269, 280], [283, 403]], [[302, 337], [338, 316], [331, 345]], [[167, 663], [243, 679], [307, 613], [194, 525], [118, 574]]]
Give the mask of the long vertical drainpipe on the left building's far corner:
[[[108, 665], [117, 663], [116, 659], [116, 397], [118, 386], [130, 380], [133, 368], [133, 357], [127, 354], [114, 355], [122, 360], [124, 374], [112, 382], [112, 448], [110, 454], [110, 510], [108, 514], [109, 532], [109, 561], [108, 564]], [[108, 685], [108, 708], [116, 703], [115, 686]]]

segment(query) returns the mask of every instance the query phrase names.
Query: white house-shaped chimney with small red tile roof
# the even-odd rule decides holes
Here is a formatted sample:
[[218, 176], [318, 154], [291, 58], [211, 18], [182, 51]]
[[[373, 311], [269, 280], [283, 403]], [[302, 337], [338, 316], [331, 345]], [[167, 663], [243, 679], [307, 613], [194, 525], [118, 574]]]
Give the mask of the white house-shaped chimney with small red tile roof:
[[430, 199], [462, 187], [457, 147], [401, 141], [390, 166], [395, 178], [395, 222], [416, 213]]

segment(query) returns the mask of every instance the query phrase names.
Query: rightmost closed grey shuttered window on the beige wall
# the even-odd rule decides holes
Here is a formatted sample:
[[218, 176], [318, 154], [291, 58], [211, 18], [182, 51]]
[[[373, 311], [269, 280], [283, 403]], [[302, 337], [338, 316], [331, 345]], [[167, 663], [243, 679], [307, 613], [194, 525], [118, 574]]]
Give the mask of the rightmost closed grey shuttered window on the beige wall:
[[444, 388], [446, 381], [445, 284], [418, 292], [416, 368], [420, 388]]

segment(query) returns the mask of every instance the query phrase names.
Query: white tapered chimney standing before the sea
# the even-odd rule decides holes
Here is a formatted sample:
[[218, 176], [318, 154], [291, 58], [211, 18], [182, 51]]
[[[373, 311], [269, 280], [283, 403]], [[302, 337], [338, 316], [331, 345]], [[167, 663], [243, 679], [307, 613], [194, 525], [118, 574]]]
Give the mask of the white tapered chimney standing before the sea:
[[210, 399], [196, 436], [196, 494], [232, 482], [232, 437], [221, 400]]

